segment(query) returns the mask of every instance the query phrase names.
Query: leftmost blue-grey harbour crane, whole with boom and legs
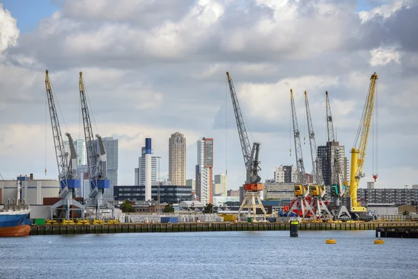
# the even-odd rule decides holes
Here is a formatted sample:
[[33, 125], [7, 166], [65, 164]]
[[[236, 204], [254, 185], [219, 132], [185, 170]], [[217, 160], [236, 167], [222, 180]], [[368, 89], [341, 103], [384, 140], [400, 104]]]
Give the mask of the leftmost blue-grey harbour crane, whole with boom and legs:
[[82, 210], [82, 218], [84, 218], [84, 206], [75, 199], [72, 199], [75, 195], [75, 189], [80, 188], [80, 180], [77, 176], [77, 153], [75, 151], [74, 142], [72, 142], [72, 137], [69, 133], [65, 133], [65, 135], [68, 137], [70, 154], [65, 152], [48, 70], [45, 70], [45, 87], [49, 105], [49, 116], [51, 117], [52, 136], [54, 137], [56, 165], [58, 165], [58, 179], [60, 183], [59, 197], [61, 198], [59, 202], [56, 202], [56, 204], [51, 206], [51, 219], [53, 219], [54, 216], [54, 209], [61, 206], [64, 206], [63, 210], [65, 211], [65, 219], [70, 219], [70, 210], [72, 205], [77, 206]]

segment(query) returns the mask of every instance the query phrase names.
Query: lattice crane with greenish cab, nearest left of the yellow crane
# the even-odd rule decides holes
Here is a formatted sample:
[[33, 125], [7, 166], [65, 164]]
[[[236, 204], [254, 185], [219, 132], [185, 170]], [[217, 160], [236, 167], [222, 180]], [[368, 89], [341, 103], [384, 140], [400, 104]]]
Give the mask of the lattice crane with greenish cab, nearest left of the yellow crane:
[[[327, 137], [330, 144], [330, 149], [332, 148], [332, 142], [334, 139], [334, 123], [332, 120], [331, 114], [331, 105], [330, 98], [328, 97], [328, 91], [325, 91], [325, 106], [327, 110]], [[346, 185], [343, 184], [343, 172], [341, 169], [341, 164], [339, 156], [334, 154], [332, 156], [332, 151], [327, 152], [327, 160], [331, 160], [330, 165], [332, 166], [332, 184], [330, 186], [331, 195], [332, 195], [332, 205], [334, 206], [333, 213], [336, 220], [341, 219], [342, 217], [351, 218], [350, 211], [348, 210], [346, 204], [341, 204], [341, 199], [346, 196], [348, 189]]]

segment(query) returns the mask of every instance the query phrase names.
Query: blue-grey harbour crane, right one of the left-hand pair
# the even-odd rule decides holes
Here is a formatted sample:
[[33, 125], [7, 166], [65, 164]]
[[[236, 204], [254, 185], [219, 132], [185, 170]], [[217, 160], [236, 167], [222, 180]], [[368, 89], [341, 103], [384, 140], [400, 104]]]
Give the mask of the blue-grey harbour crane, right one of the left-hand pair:
[[84, 90], [83, 73], [79, 73], [79, 91], [82, 105], [84, 137], [86, 139], [86, 153], [88, 166], [88, 179], [90, 179], [90, 201], [85, 204], [86, 209], [89, 206], [95, 208], [96, 218], [100, 218], [100, 209], [111, 209], [112, 218], [114, 216], [114, 206], [109, 202], [103, 201], [104, 189], [110, 188], [110, 181], [107, 179], [107, 156], [104, 151], [102, 137], [95, 135], [93, 137], [93, 128], [91, 127], [90, 114], [88, 113], [88, 105], [86, 93]]

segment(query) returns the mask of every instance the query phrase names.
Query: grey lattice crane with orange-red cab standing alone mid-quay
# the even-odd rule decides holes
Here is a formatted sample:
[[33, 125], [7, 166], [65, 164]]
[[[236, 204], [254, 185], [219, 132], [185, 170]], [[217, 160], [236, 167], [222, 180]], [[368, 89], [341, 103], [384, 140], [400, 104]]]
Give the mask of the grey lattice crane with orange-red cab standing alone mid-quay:
[[242, 209], [247, 209], [248, 217], [251, 217], [251, 211], [256, 221], [256, 209], [261, 209], [263, 212], [263, 220], [265, 220], [266, 212], [263, 204], [261, 203], [259, 191], [263, 190], [263, 183], [258, 172], [261, 170], [260, 162], [258, 162], [258, 152], [260, 151], [260, 143], [254, 142], [252, 149], [249, 144], [247, 135], [247, 129], [245, 128], [244, 117], [242, 116], [240, 104], [238, 103], [238, 97], [235, 93], [235, 88], [231, 76], [226, 72], [228, 78], [229, 91], [231, 92], [233, 112], [235, 113], [235, 121], [237, 122], [238, 135], [240, 137], [242, 156], [244, 157], [245, 168], [247, 169], [247, 179], [243, 185], [245, 192], [244, 200], [238, 210], [238, 219], [240, 218], [240, 212]]

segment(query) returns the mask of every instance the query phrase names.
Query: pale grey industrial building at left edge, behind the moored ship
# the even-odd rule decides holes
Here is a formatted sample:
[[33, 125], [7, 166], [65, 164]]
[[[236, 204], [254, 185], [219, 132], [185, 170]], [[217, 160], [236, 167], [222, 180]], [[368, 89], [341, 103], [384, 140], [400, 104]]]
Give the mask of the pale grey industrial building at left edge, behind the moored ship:
[[[21, 183], [21, 197], [26, 204], [43, 204], [44, 197], [58, 197], [59, 181], [33, 179], [33, 175], [20, 175], [17, 180]], [[6, 204], [17, 197], [17, 180], [0, 180], [0, 203]]]

